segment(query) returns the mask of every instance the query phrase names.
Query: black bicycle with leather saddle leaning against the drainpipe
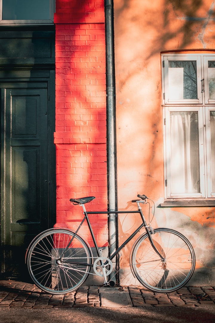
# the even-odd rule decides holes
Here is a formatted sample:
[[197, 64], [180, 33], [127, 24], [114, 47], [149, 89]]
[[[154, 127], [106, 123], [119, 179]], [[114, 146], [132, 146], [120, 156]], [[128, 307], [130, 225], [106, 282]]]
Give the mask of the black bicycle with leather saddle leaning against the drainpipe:
[[[130, 254], [130, 267], [133, 275], [146, 288], [155, 292], [172, 292], [184, 286], [191, 278], [195, 268], [195, 254], [191, 243], [181, 233], [166, 228], [153, 229], [146, 223], [141, 204], [146, 204], [145, 195], [137, 195], [136, 211], [95, 211], [87, 212], [85, 203], [95, 199], [94, 196], [70, 199], [73, 204], [83, 207], [83, 220], [73, 232], [64, 228], [48, 229], [37, 235], [30, 243], [26, 262], [30, 276], [35, 285], [50, 294], [66, 294], [76, 290], [93, 274], [103, 276], [103, 285], [109, 285], [112, 273], [112, 259], [142, 229], [142, 234], [134, 243]], [[149, 199], [150, 200], [150, 199]], [[153, 202], [153, 201], [152, 201]], [[139, 213], [142, 224], [109, 258], [103, 257], [102, 249], [93, 234], [88, 214]], [[86, 220], [97, 258], [93, 259], [90, 245], [78, 231]]]

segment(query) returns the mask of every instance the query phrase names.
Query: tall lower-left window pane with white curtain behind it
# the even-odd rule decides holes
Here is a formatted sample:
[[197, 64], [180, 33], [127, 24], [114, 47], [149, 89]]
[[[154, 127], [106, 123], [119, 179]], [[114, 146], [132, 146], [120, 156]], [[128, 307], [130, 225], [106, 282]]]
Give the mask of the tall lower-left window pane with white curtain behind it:
[[170, 112], [171, 193], [200, 193], [198, 112]]

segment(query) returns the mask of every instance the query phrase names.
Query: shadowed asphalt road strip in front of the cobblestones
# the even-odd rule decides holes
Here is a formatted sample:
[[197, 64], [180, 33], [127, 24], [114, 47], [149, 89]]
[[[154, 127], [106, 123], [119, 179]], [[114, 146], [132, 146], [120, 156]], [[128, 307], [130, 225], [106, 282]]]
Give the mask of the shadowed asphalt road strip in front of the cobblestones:
[[1, 323], [215, 323], [215, 307], [1, 308]]

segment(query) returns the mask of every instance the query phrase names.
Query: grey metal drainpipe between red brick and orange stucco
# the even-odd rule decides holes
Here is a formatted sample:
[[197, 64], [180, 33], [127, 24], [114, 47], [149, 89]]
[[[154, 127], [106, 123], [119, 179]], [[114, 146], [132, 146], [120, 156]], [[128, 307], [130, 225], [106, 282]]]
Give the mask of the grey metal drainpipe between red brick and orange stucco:
[[[106, 37], [106, 93], [107, 93], [107, 153], [108, 153], [108, 194], [109, 211], [115, 211], [116, 187], [115, 187], [115, 129], [114, 129], [114, 55], [113, 55], [113, 7], [112, 0], [105, 0], [105, 37]], [[116, 250], [116, 215], [109, 214], [109, 244], [110, 254]], [[116, 259], [112, 260], [113, 268], [116, 268]], [[109, 277], [110, 286], [116, 282], [115, 273]]]

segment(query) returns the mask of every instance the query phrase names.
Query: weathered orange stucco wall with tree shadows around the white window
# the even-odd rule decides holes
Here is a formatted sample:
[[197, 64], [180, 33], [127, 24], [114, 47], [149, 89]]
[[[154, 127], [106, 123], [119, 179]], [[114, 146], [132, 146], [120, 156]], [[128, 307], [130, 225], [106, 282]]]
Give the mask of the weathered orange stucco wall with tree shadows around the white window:
[[[155, 202], [153, 226], [191, 241], [197, 268], [214, 267], [215, 209], [158, 208], [164, 200], [161, 52], [214, 50], [212, 0], [114, 0], [118, 208], [132, 210], [138, 193]], [[148, 218], [148, 208], [146, 207]], [[119, 216], [119, 242], [139, 219]], [[129, 249], [122, 251], [126, 268]]]

